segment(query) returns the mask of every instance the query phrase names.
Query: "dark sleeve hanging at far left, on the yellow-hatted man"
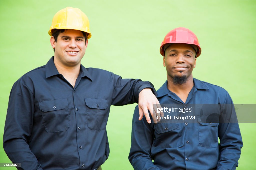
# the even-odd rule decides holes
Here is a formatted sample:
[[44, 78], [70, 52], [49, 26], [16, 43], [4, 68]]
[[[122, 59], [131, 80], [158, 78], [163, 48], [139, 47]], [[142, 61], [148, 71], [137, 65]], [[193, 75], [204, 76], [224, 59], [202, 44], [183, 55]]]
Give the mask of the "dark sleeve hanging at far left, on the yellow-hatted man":
[[18, 169], [42, 169], [28, 144], [34, 110], [33, 93], [20, 80], [16, 81], [10, 92], [3, 145], [9, 159], [21, 163]]

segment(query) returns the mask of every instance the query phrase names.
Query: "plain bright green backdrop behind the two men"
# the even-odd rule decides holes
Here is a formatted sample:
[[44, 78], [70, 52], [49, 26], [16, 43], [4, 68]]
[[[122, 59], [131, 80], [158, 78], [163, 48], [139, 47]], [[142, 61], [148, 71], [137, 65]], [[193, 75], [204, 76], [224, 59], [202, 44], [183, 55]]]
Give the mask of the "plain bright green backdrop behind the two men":
[[[256, 1], [1, 1], [0, 141], [12, 85], [54, 55], [48, 31], [55, 13], [67, 6], [80, 8], [90, 20], [84, 66], [149, 80], [158, 90], [166, 81], [159, 47], [170, 30], [186, 27], [202, 47], [193, 76], [225, 88], [234, 103], [256, 103]], [[128, 155], [135, 106], [111, 107], [110, 155], [103, 170], [133, 169]], [[237, 169], [254, 169], [256, 124], [240, 128], [244, 147]], [[0, 162], [10, 162], [2, 144]]]

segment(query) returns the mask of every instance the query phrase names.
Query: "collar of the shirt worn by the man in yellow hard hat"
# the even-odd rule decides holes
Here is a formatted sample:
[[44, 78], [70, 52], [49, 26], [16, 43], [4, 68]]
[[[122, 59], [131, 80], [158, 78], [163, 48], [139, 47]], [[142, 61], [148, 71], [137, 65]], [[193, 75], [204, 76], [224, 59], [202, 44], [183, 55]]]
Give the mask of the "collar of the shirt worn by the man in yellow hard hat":
[[[45, 77], [51, 77], [54, 75], [59, 75], [59, 71], [57, 70], [55, 64], [54, 64], [54, 56], [51, 57], [51, 59], [48, 61], [48, 63], [45, 65]], [[92, 76], [89, 73], [89, 71], [81, 64], [80, 66], [80, 75], [81, 77], [88, 77], [92, 81]]]

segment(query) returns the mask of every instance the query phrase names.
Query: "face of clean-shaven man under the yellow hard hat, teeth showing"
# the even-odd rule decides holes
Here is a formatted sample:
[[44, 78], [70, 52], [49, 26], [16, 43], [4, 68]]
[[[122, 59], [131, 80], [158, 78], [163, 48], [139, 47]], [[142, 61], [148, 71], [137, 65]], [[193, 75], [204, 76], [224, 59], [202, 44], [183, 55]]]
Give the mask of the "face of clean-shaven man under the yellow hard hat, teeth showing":
[[73, 67], [80, 65], [88, 40], [78, 30], [66, 30], [59, 34], [57, 41], [51, 37], [51, 45], [55, 49], [54, 61], [62, 66]]

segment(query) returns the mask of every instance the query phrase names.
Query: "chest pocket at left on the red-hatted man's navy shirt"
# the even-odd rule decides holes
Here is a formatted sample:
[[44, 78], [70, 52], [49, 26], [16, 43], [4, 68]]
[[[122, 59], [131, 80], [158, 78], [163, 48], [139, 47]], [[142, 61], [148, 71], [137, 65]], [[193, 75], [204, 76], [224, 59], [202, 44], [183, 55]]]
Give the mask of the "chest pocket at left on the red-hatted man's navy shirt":
[[157, 123], [154, 125], [156, 145], [162, 148], [176, 148], [182, 144], [178, 123]]

